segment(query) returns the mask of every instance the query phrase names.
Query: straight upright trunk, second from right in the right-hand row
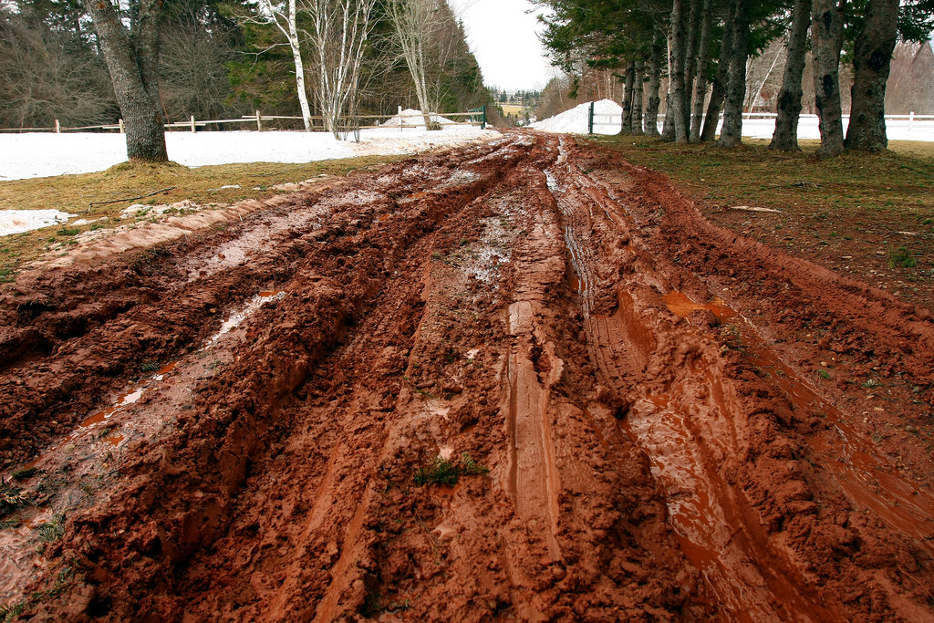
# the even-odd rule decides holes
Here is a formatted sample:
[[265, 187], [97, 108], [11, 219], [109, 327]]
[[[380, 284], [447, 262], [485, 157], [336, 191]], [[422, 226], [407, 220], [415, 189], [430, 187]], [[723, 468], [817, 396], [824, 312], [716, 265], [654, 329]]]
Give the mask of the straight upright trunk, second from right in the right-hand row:
[[846, 0], [814, 0], [811, 36], [814, 38], [814, 107], [820, 128], [817, 156], [828, 158], [843, 152], [843, 120], [840, 103], [840, 48]]

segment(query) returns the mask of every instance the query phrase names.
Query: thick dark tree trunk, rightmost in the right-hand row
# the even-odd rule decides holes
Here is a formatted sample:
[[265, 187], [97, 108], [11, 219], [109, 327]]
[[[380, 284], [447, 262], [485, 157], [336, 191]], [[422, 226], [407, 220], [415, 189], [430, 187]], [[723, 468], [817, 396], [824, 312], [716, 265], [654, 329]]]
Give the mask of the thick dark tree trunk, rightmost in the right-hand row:
[[870, 0], [866, 22], [853, 50], [853, 100], [846, 129], [848, 149], [882, 151], [885, 135], [885, 82], [899, 34], [899, 0]]

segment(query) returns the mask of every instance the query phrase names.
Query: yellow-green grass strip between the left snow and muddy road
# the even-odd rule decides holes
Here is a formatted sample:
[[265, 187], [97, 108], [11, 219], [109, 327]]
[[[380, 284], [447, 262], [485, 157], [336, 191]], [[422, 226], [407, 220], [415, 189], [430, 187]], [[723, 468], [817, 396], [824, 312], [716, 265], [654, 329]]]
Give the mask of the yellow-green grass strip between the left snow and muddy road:
[[[80, 214], [84, 219], [100, 219], [88, 225], [54, 225], [0, 237], [0, 283], [12, 281], [25, 262], [35, 260], [52, 248], [68, 244], [74, 236], [89, 230], [116, 227], [116, 217], [128, 205], [172, 204], [190, 199], [200, 205], [233, 204], [244, 199], [275, 195], [271, 187], [318, 176], [345, 176], [351, 171], [400, 160], [404, 156], [363, 156], [316, 163], [236, 163], [188, 168], [177, 163], [121, 163], [106, 171], [76, 176], [35, 177], [0, 181], [0, 210], [54, 208]], [[176, 187], [139, 200], [91, 205]], [[239, 186], [240, 188], [221, 188]], [[90, 206], [90, 207], [89, 207]], [[144, 214], [142, 218], [147, 218]], [[125, 219], [122, 223], [132, 222]]]

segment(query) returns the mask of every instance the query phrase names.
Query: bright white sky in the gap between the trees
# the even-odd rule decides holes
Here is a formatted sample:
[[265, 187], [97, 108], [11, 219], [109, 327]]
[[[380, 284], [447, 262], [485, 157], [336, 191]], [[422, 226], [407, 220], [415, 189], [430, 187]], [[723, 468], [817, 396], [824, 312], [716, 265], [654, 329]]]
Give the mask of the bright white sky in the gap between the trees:
[[[542, 24], [527, 0], [448, 0], [464, 22], [488, 87], [541, 89], [555, 68], [545, 58], [537, 33]], [[538, 12], [541, 12], [538, 9]]]

